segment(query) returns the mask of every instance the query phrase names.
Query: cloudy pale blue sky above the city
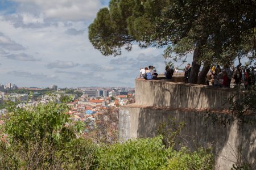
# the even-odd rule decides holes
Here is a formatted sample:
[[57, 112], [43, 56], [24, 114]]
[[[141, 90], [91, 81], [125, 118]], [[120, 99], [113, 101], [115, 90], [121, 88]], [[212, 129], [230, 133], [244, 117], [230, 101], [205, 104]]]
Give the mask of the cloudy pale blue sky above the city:
[[0, 83], [18, 87], [134, 87], [139, 68], [164, 71], [163, 49], [105, 57], [88, 26], [109, 0], [0, 0]]

